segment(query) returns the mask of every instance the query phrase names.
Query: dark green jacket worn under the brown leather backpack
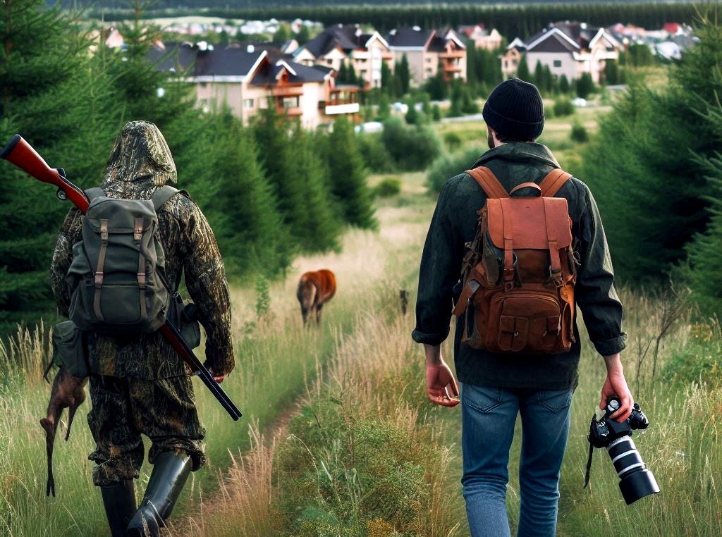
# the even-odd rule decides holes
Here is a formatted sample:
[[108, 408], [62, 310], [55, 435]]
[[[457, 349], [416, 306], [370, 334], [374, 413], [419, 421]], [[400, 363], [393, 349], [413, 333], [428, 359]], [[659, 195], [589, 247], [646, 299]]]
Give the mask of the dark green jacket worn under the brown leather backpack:
[[[486, 166], [510, 191], [520, 183], [539, 183], [554, 167], [554, 155], [541, 144], [513, 142], [484, 153], [472, 167]], [[583, 313], [589, 337], [597, 352], [609, 356], [625, 348], [622, 304], [614, 291], [614, 273], [599, 211], [587, 186], [571, 178], [557, 193], [567, 198], [578, 239], [581, 266], [575, 286], [577, 305]], [[453, 287], [461, 274], [464, 244], [473, 240], [477, 211], [486, 195], [467, 173], [449, 179], [443, 186], [424, 245], [416, 305], [417, 325], [412, 337], [417, 343], [440, 344], [449, 333]], [[569, 352], [544, 356], [495, 354], [461, 344], [457, 325], [454, 356], [462, 383], [506, 388], [573, 388], [578, 380], [580, 341]]]

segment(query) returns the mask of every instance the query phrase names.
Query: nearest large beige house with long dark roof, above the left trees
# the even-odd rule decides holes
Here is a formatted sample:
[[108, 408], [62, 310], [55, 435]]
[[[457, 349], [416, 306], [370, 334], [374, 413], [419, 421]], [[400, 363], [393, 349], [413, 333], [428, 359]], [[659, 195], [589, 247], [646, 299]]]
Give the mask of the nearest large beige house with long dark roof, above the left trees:
[[168, 51], [154, 48], [150, 59], [195, 84], [201, 108], [225, 105], [245, 125], [269, 106], [310, 129], [341, 114], [355, 121], [359, 112], [358, 88], [336, 87], [334, 71], [297, 64], [254, 45], [169, 45]]

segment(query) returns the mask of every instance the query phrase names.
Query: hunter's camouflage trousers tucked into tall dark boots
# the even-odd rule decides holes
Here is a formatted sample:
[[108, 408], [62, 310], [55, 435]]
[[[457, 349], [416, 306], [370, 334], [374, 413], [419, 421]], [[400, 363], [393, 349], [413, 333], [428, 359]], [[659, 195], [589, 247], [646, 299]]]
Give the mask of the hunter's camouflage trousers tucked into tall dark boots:
[[88, 424], [95, 450], [92, 471], [96, 486], [137, 479], [143, 464], [141, 434], [152, 442], [148, 461], [164, 451], [187, 453], [193, 471], [205, 463], [201, 427], [193, 401], [191, 377], [139, 380], [90, 375], [92, 409]]

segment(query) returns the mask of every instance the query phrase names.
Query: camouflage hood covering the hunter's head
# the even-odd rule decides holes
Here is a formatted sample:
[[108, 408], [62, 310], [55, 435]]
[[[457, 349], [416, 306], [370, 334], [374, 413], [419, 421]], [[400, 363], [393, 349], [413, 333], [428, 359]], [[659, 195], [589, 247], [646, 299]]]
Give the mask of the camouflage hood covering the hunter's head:
[[126, 123], [110, 152], [103, 190], [110, 196], [149, 198], [156, 187], [176, 180], [173, 156], [157, 126]]

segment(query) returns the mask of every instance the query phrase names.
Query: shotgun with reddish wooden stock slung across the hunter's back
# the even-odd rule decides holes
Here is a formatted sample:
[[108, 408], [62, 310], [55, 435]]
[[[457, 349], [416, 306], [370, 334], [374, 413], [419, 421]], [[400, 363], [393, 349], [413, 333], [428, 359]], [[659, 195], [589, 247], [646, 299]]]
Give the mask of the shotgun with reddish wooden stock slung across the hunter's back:
[[[56, 192], [58, 198], [62, 200], [69, 199], [82, 214], [87, 212], [90, 201], [88, 201], [84, 191], [65, 177], [63, 168], [51, 168], [48, 166], [45, 160], [43, 160], [43, 157], [40, 157], [38, 152], [19, 134], [12, 137], [5, 146], [5, 149], [0, 153], [0, 158], [7, 160], [31, 177], [43, 181], [43, 183], [56, 185], [58, 187], [58, 191]], [[178, 331], [178, 328], [173, 326], [170, 320], [165, 320], [165, 324], [159, 328], [159, 331], [162, 336], [168, 340], [170, 346], [173, 346], [175, 352], [178, 352], [181, 358], [183, 358], [183, 361], [188, 364], [188, 367], [193, 371], [193, 375], [201, 377], [206, 388], [211, 390], [213, 396], [221, 403], [232, 419], [238, 420], [242, 415], [238, 406], [235, 406], [235, 403], [231, 401], [227, 393], [225, 393], [219, 383], [216, 382], [209, 370], [198, 357], [196, 357], [193, 349], [188, 346], [186, 340], [183, 339], [183, 336], [181, 336], [181, 333]]]

